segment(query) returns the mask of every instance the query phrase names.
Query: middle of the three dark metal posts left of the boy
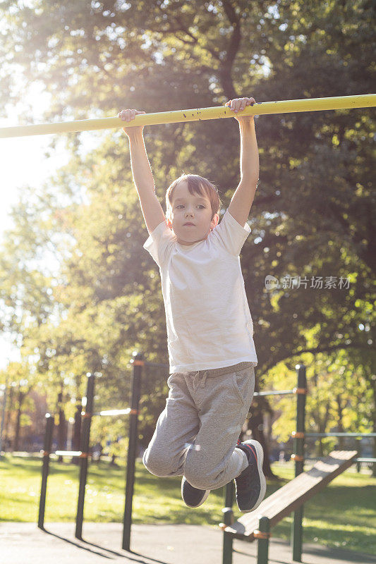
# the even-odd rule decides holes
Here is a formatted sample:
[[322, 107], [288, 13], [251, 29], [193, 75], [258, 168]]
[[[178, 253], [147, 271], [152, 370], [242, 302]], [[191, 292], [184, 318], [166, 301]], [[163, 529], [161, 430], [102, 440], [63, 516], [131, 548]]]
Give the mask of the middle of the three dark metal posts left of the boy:
[[75, 516], [75, 538], [83, 538], [83, 506], [85, 503], [85, 486], [87, 478], [87, 463], [90, 444], [90, 425], [92, 422], [92, 407], [94, 402], [95, 375], [87, 375], [86, 407], [83, 412], [83, 424], [80, 443], [80, 486], [78, 489], [77, 514]]

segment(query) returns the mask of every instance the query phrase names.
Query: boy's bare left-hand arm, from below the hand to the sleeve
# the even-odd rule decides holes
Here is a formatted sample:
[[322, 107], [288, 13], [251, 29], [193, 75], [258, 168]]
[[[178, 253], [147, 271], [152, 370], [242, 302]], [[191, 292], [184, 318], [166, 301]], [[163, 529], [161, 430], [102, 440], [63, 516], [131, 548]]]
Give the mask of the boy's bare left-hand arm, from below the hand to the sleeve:
[[162, 206], [159, 204], [159, 200], [155, 194], [154, 178], [149, 159], [147, 159], [142, 131], [130, 134], [128, 137], [133, 182], [138, 192], [142, 214], [145, 219], [147, 231], [150, 235], [159, 223], [166, 221], [166, 219]]

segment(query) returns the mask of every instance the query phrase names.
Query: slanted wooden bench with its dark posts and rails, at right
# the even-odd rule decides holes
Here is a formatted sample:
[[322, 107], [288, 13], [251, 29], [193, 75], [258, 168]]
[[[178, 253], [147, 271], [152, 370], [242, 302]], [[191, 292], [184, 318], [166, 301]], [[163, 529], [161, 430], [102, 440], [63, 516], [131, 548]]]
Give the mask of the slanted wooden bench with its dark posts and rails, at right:
[[255, 396], [271, 396], [296, 393], [296, 431], [291, 433], [294, 439], [291, 460], [295, 461], [295, 478], [262, 501], [255, 512], [247, 513], [234, 522], [232, 505], [234, 503], [234, 482], [226, 485], [226, 507], [224, 523], [219, 527], [224, 532], [222, 564], [232, 563], [233, 539], [253, 541], [258, 539], [257, 564], [268, 563], [270, 527], [294, 512], [291, 524], [291, 546], [293, 560], [301, 562], [303, 548], [303, 503], [323, 489], [336, 476], [344, 472], [353, 462], [363, 460], [376, 462], [375, 459], [357, 458], [357, 450], [334, 450], [326, 458], [318, 460], [304, 472], [304, 448], [307, 437], [320, 436], [376, 436], [376, 433], [305, 433], [305, 395], [307, 380], [304, 364], [298, 364], [298, 386], [293, 390], [255, 393]]

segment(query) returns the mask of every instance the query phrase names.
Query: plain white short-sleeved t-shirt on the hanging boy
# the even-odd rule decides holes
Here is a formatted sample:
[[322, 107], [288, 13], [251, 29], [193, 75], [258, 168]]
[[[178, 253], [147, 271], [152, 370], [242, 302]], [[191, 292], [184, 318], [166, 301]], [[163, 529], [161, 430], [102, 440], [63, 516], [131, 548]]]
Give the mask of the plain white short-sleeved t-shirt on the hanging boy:
[[162, 221], [143, 245], [161, 275], [170, 374], [257, 365], [239, 257], [249, 234], [227, 209], [206, 240], [181, 245]]

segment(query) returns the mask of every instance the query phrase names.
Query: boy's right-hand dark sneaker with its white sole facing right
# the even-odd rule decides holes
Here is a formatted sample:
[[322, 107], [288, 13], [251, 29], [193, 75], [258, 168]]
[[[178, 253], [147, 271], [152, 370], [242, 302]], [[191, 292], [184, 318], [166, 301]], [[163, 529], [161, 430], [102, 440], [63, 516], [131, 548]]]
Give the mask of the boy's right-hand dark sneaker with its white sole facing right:
[[264, 453], [262, 446], [257, 441], [238, 441], [236, 448], [241, 448], [248, 458], [248, 467], [235, 478], [236, 503], [243, 513], [250, 513], [262, 502], [267, 483], [262, 472]]

